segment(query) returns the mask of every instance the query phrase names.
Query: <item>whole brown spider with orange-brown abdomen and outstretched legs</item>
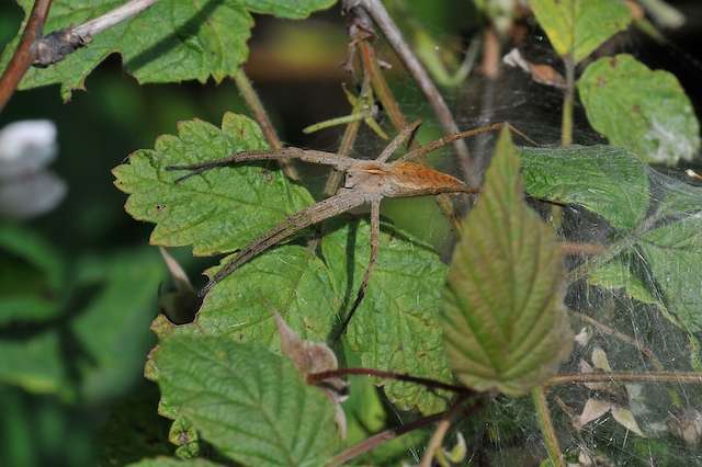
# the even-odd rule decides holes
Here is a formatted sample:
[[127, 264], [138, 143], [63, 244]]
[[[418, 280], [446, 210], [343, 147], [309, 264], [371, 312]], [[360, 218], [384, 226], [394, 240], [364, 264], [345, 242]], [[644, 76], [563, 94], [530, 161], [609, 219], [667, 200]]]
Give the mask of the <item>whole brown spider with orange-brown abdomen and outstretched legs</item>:
[[299, 148], [286, 148], [280, 150], [244, 151], [223, 159], [190, 166], [170, 166], [167, 170], [190, 170], [191, 172], [176, 183], [194, 176], [215, 167], [228, 166], [249, 160], [280, 160], [297, 159], [304, 162], [331, 166], [335, 170], [346, 172], [346, 183], [336, 195], [320, 201], [317, 204], [288, 217], [278, 226], [270, 229], [256, 240], [241, 249], [227, 264], [225, 264], [212, 280], [204, 286], [201, 295], [206, 294], [216, 283], [229, 275], [237, 267], [257, 257], [268, 248], [293, 234], [314, 224], [337, 216], [363, 204], [371, 205], [371, 259], [363, 275], [363, 281], [353, 306], [349, 310], [341, 327], [343, 332], [351, 317], [361, 304], [377, 260], [377, 248], [381, 231], [381, 201], [384, 197], [414, 197], [438, 195], [441, 193], [478, 193], [479, 189], [468, 187], [461, 180], [445, 173], [410, 162], [424, 153], [431, 152], [457, 139], [467, 138], [480, 133], [494, 132], [507, 126], [525, 140], [533, 143], [529, 137], [509, 125], [497, 123], [482, 128], [448, 135], [437, 139], [424, 147], [410, 150], [401, 158], [387, 162], [397, 148], [412, 136], [421, 121], [416, 121], [403, 129], [375, 160], [360, 160], [332, 152], [304, 150]]

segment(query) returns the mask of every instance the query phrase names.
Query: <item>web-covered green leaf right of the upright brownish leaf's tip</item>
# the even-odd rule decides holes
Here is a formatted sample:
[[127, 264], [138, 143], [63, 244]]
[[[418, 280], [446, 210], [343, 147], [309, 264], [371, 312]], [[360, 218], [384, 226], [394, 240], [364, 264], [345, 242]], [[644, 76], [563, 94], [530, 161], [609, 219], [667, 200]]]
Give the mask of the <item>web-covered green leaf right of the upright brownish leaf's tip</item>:
[[577, 204], [631, 230], [648, 208], [648, 178], [636, 155], [612, 146], [518, 148], [531, 196]]

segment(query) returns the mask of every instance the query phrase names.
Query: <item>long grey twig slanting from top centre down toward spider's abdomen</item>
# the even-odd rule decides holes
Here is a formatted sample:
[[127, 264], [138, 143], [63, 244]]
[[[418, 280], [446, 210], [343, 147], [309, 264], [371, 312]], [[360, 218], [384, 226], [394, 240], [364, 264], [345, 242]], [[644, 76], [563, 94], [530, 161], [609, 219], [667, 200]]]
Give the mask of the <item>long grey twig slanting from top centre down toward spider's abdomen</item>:
[[[429, 77], [424, 67], [422, 67], [409, 45], [407, 45], [407, 42], [403, 38], [401, 33], [385, 9], [385, 5], [383, 5], [383, 2], [381, 0], [346, 0], [344, 10], [351, 10], [352, 8], [364, 9], [371, 15], [375, 24], [377, 24], [387, 43], [393, 47], [399, 59], [403, 61], [403, 65], [405, 65], [407, 71], [417, 82], [417, 86], [419, 86], [424, 98], [427, 98], [427, 101], [437, 114], [444, 132], [446, 134], [457, 133], [458, 126], [456, 125], [449, 106], [434, 86], [434, 82]], [[478, 179], [475, 173], [475, 168], [473, 167], [473, 160], [471, 159], [468, 147], [465, 141], [461, 140], [454, 141], [453, 147], [457, 153], [461, 169], [463, 170], [463, 174], [468, 186], [476, 186]]]

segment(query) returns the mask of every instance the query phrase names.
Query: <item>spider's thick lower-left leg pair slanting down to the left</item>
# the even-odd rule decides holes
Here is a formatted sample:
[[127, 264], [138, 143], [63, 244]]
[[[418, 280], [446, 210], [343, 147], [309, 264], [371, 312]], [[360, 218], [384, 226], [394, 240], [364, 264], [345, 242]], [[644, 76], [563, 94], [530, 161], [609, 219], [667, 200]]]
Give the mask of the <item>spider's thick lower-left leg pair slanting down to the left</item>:
[[205, 295], [216, 283], [231, 274], [231, 272], [234, 272], [237, 267], [239, 267], [250, 259], [257, 257], [261, 252], [265, 251], [270, 247], [274, 246], [279, 241], [304, 229], [305, 227], [309, 227], [314, 224], [320, 223], [325, 219], [358, 207], [366, 201], [367, 200], [365, 200], [365, 197], [359, 196], [356, 193], [349, 193], [347, 191], [320, 201], [319, 203], [314, 204], [308, 208], [292, 215], [281, 224], [276, 225], [275, 227], [244, 247], [244, 249], [241, 249], [236, 254], [236, 257], [234, 257], [227, 264], [225, 264], [219, 271], [217, 271], [214, 277], [212, 277], [200, 292], [200, 295]]

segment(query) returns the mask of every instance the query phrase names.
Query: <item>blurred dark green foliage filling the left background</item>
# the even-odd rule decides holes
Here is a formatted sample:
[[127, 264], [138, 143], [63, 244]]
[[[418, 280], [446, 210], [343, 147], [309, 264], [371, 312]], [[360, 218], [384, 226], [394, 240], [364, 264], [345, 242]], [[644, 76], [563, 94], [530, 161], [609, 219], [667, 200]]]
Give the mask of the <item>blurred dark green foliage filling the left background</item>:
[[[18, 5], [0, 3], [0, 44], [16, 34], [22, 18]], [[231, 82], [138, 86], [115, 56], [86, 87], [65, 104], [57, 87], [19, 92], [0, 114], [0, 127], [32, 118], [56, 123], [59, 156], [52, 170], [69, 185], [63, 204], [43, 217], [23, 224], [0, 219], [2, 466], [95, 465], [93, 432], [107, 420], [107, 407], [152, 390], [141, 373], [155, 343], [148, 324], [168, 272], [158, 250], [145, 246], [149, 228], [124, 213], [110, 170], [173, 132], [180, 119], [217, 121], [226, 111], [244, 111]], [[189, 249], [171, 253], [201, 286], [207, 261], [193, 259]], [[37, 296], [39, 276], [45, 285]], [[143, 442], [143, 452], [131, 453], [131, 462], [172, 453], [170, 444], [149, 444], [168, 433], [157, 401], [148, 410], [134, 410], [143, 402], [113, 410], [125, 440], [138, 436], [141, 426], [149, 433], [148, 426], [165, 426]]]

